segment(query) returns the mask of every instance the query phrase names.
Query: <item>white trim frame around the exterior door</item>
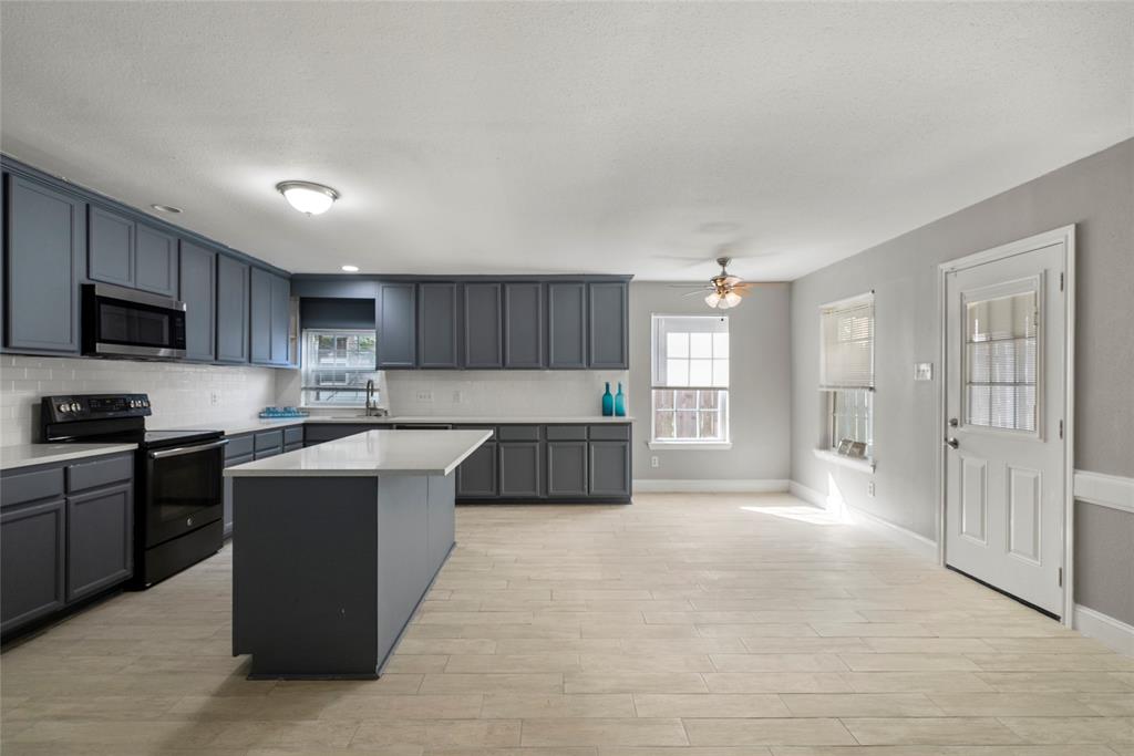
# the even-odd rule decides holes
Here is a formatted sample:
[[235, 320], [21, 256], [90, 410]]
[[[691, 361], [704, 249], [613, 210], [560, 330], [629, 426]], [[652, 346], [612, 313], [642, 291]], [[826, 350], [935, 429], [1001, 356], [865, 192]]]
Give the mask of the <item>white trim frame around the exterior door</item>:
[[[1064, 244], [1064, 317], [1065, 335], [1063, 345], [1064, 358], [1064, 523], [1063, 523], [1063, 593], [1064, 611], [1060, 621], [1067, 627], [1072, 627], [1075, 614], [1075, 223], [1064, 226], [1043, 233], [1036, 233], [1025, 239], [1018, 239], [1008, 244], [984, 249], [964, 257], [957, 257], [940, 263], [937, 266], [938, 277], [938, 335], [940, 338], [940, 360], [941, 380], [937, 387], [937, 426], [946, 427], [946, 382], [948, 380], [948, 292], [946, 281], [949, 273], [955, 273], [968, 267], [982, 265], [1013, 255], [1032, 252], [1052, 244]], [[1049, 355], [1053, 350], [1049, 350]], [[945, 567], [945, 507], [946, 507], [946, 447], [940, 444], [937, 455], [937, 559], [938, 564]]]

